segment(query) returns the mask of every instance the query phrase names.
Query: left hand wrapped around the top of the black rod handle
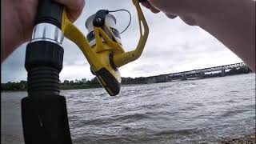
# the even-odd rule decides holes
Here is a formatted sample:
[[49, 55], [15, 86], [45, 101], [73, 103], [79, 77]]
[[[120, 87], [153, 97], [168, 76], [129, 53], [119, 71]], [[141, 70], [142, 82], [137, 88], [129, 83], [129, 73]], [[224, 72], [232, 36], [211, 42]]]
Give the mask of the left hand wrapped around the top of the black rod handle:
[[[54, 0], [66, 6], [67, 17], [74, 22], [82, 13], [85, 0]], [[38, 0], [1, 1], [1, 62], [18, 46], [30, 40]]]

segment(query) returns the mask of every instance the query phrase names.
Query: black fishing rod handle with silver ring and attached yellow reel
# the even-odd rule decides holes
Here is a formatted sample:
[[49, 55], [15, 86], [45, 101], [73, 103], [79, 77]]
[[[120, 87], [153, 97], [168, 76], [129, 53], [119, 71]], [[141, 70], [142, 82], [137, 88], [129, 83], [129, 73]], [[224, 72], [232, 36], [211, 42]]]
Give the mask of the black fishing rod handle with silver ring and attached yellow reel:
[[28, 97], [22, 98], [22, 127], [26, 144], [70, 144], [70, 126], [66, 98], [60, 95], [59, 73], [62, 70], [62, 41], [74, 42], [85, 55], [91, 72], [108, 94], [117, 95], [121, 87], [118, 68], [140, 57], [146, 45], [149, 28], [139, 5], [140, 39], [135, 50], [125, 52], [110, 13], [98, 10], [86, 21], [89, 33], [84, 36], [66, 16], [66, 8], [51, 0], [40, 0], [31, 41], [26, 46], [25, 67]]

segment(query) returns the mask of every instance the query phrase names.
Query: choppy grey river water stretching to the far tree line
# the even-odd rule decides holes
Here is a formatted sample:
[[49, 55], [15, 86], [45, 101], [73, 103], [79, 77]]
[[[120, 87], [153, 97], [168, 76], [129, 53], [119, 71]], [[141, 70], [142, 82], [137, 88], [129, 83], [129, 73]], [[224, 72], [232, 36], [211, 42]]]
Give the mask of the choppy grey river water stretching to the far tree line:
[[[74, 143], [216, 143], [255, 130], [255, 74], [64, 90]], [[21, 143], [20, 99], [2, 93], [2, 142]], [[11, 139], [15, 139], [12, 141]]]

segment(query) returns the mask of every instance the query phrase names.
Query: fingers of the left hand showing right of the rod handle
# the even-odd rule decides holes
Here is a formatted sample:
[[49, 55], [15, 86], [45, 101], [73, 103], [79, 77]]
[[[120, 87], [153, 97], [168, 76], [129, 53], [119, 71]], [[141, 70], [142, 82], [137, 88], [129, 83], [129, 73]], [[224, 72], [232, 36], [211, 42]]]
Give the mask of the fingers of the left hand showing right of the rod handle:
[[82, 9], [84, 8], [86, 2], [85, 0], [54, 0], [55, 2], [59, 2], [66, 6], [67, 9], [67, 17], [71, 22], [77, 20], [77, 18], [82, 13]]

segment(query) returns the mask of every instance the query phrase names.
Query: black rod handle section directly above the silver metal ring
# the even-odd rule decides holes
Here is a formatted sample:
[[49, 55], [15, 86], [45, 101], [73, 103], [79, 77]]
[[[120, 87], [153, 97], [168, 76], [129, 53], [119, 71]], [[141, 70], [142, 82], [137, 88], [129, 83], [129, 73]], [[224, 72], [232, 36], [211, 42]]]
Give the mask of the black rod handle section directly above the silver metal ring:
[[54, 24], [61, 29], [63, 8], [64, 6], [58, 2], [52, 0], [39, 0], [35, 25], [46, 22]]

